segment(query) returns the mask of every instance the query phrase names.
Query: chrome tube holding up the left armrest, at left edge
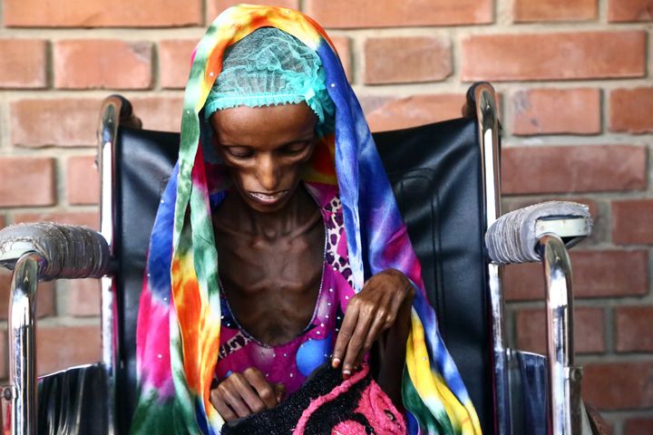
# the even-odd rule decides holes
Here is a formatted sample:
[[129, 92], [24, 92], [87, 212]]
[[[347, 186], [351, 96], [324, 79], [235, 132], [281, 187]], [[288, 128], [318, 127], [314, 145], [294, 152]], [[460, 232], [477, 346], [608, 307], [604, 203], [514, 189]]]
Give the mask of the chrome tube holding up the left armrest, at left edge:
[[36, 289], [44, 259], [35, 252], [15, 265], [9, 302], [9, 382], [11, 434], [36, 433]]

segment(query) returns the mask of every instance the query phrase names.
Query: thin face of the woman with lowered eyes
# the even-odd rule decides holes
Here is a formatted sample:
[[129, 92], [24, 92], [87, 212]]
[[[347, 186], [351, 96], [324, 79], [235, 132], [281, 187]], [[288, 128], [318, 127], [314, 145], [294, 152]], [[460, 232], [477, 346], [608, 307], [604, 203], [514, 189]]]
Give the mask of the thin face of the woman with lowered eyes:
[[210, 117], [219, 156], [250, 208], [283, 208], [316, 145], [317, 116], [306, 103], [236, 107]]

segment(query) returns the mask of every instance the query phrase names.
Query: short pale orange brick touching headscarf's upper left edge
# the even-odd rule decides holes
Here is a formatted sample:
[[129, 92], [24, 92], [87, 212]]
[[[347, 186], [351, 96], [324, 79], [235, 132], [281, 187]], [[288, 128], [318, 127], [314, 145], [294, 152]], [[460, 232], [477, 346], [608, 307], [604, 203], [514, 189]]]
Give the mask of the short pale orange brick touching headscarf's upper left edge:
[[197, 40], [171, 39], [159, 43], [161, 88], [183, 88], [190, 73], [190, 55]]

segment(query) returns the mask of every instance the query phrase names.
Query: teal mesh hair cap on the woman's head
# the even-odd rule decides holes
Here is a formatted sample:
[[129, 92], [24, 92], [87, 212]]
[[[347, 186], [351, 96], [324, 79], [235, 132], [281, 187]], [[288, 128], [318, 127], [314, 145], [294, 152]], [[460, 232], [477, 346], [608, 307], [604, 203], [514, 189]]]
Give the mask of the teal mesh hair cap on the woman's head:
[[317, 115], [317, 133], [333, 131], [334, 103], [317, 53], [274, 27], [263, 27], [226, 51], [204, 106], [215, 111], [238, 106], [261, 107], [306, 102]]

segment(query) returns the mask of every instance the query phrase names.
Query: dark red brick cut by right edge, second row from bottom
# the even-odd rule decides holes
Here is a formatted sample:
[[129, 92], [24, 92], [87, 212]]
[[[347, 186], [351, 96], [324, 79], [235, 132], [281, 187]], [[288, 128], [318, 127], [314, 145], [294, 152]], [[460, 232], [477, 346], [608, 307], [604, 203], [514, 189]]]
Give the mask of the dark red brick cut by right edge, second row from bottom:
[[589, 362], [583, 367], [583, 398], [599, 410], [653, 406], [653, 362]]

